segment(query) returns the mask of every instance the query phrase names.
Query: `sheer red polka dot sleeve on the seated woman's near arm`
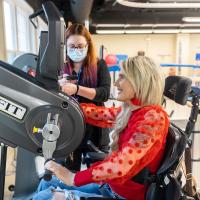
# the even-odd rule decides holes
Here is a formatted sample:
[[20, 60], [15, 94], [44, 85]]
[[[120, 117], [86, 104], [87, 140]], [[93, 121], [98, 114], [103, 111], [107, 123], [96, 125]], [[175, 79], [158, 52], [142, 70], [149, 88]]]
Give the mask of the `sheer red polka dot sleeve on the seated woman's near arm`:
[[86, 182], [115, 181], [123, 184], [130, 180], [159, 153], [166, 139], [168, 126], [167, 115], [161, 109], [151, 109], [143, 117], [139, 116], [138, 120], [128, 124], [129, 138], [119, 150], [87, 170], [87, 173], [90, 171], [91, 180]]

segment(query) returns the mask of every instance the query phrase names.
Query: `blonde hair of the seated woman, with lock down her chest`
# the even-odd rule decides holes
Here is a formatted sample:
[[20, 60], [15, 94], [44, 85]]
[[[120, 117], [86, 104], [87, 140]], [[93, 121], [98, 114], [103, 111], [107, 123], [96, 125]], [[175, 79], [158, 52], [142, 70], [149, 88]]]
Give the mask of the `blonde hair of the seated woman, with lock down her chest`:
[[[161, 69], [146, 56], [129, 58], [123, 63], [122, 70], [131, 82], [135, 97], [141, 103], [140, 107], [147, 105], [161, 105], [164, 89], [164, 79]], [[111, 150], [118, 150], [119, 135], [127, 126], [132, 111], [138, 107], [124, 103], [122, 111], [116, 119], [116, 126], [111, 132]]]

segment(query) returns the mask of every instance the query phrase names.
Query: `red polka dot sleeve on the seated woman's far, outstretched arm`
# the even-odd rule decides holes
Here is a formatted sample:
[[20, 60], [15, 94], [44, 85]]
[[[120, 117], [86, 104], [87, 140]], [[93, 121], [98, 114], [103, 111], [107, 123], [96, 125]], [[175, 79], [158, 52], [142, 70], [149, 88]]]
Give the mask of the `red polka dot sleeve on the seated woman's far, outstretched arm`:
[[107, 108], [104, 106], [96, 106], [94, 104], [81, 103], [80, 104], [88, 124], [110, 128], [113, 127], [117, 114], [121, 108]]

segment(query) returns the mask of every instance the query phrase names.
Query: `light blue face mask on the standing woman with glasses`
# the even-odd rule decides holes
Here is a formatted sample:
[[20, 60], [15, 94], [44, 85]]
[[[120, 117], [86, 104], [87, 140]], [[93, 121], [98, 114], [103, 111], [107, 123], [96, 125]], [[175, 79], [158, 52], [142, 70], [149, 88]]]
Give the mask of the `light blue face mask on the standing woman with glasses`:
[[70, 48], [70, 47], [67, 48], [67, 55], [74, 62], [83, 61], [87, 56], [87, 52], [88, 52], [88, 46], [81, 49]]

